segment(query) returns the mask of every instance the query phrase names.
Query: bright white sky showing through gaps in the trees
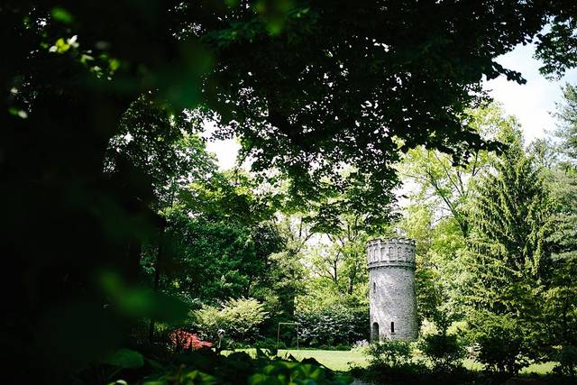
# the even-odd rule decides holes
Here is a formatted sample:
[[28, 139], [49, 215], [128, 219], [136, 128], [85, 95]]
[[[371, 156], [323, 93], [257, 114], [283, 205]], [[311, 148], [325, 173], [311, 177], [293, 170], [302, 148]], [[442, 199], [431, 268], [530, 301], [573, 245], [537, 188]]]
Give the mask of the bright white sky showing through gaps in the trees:
[[[503, 77], [484, 84], [490, 96], [503, 105], [507, 114], [517, 116], [527, 142], [554, 130], [555, 121], [550, 113], [555, 109], [555, 102], [562, 100], [561, 86], [565, 83], [577, 84], [577, 69], [568, 71], [562, 79], [555, 81], [541, 76], [538, 70], [540, 63], [533, 59], [534, 51], [533, 45], [519, 45], [497, 59], [505, 68], [521, 72], [527, 84], [520, 86]], [[234, 166], [240, 149], [235, 140], [209, 142], [207, 147], [208, 151], [215, 152], [219, 167], [223, 170]]]

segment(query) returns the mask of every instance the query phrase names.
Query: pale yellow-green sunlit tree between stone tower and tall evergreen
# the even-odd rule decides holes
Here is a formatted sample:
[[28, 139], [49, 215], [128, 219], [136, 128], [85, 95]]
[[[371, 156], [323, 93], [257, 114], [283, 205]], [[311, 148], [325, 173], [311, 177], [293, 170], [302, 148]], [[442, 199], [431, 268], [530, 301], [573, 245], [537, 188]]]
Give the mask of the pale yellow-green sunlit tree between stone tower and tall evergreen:
[[[481, 105], [463, 114], [463, 120], [486, 139], [518, 130], [513, 116], [497, 104]], [[470, 234], [472, 202], [481, 175], [496, 159], [477, 150], [462, 164], [447, 154], [422, 146], [408, 151], [398, 166], [409, 190], [408, 206], [398, 227], [417, 240], [417, 296], [420, 320], [463, 317], [463, 287], [469, 275], [465, 243]]]

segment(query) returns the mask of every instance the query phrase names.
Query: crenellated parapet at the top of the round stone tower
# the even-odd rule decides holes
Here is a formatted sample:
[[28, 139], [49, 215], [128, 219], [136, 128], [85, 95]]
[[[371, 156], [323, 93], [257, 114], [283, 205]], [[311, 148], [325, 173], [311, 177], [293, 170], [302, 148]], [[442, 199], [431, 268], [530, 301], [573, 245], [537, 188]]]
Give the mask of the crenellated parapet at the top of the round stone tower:
[[369, 270], [387, 267], [415, 269], [415, 241], [407, 238], [373, 239], [367, 243]]

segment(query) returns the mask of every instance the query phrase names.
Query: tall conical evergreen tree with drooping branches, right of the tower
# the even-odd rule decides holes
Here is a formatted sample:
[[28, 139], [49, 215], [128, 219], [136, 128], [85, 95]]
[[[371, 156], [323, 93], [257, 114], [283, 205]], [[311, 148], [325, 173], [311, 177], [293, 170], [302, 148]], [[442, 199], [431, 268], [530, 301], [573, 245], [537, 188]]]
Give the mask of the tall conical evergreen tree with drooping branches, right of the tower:
[[[543, 299], [550, 273], [553, 206], [543, 173], [518, 129], [500, 133], [508, 150], [480, 181], [473, 208], [468, 320], [481, 361], [516, 372], [539, 358], [547, 335]], [[506, 343], [495, 341], [495, 336]]]

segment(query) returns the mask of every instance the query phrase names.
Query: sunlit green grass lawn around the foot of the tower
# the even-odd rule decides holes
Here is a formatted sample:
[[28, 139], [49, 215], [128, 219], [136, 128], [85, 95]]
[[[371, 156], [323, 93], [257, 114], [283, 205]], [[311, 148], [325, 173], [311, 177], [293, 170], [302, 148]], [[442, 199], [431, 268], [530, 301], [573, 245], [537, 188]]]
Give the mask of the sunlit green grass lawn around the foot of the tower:
[[[254, 349], [243, 350], [246, 353], [255, 353]], [[350, 352], [350, 351], [334, 351], [334, 350], [279, 350], [279, 357], [286, 358], [292, 355], [298, 360], [305, 358], [314, 358], [316, 361], [322, 363], [327, 368], [334, 371], [348, 371], [350, 369], [350, 363], [356, 366], [366, 366], [368, 360], [364, 354], [360, 352]], [[474, 371], [480, 371], [482, 365], [479, 362], [474, 362], [472, 360], [465, 360], [463, 362], [467, 369]], [[528, 366], [521, 371], [521, 374], [536, 373], [536, 374], [546, 374], [553, 370], [554, 362], [546, 363], [536, 363]]]

